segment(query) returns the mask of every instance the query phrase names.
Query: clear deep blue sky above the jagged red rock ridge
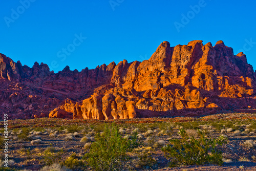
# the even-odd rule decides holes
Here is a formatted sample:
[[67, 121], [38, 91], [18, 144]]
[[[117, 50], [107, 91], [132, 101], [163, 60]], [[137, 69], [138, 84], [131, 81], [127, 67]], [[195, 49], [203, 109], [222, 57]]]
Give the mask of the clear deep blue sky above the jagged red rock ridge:
[[165, 40], [201, 39], [243, 50], [256, 70], [255, 1], [13, 0], [1, 7], [0, 53], [29, 67], [81, 71], [148, 59]]

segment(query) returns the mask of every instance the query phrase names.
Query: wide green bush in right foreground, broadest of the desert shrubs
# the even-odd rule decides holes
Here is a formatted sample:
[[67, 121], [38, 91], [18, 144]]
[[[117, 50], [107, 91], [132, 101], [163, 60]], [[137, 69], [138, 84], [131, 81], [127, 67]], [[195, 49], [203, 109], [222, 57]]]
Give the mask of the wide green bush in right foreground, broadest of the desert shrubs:
[[217, 139], [206, 138], [198, 131], [199, 138], [188, 136], [184, 129], [180, 129], [181, 139], [170, 139], [170, 144], [162, 147], [167, 159], [172, 159], [170, 166], [201, 165], [215, 163], [222, 165], [222, 152], [217, 149], [217, 144], [227, 143], [227, 139], [220, 136]]

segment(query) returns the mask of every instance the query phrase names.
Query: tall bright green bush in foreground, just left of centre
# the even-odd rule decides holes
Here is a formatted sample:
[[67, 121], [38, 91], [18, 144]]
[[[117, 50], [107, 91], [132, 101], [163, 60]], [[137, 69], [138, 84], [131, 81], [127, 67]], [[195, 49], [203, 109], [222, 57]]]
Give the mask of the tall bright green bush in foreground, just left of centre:
[[96, 134], [95, 142], [83, 159], [94, 170], [119, 170], [122, 162], [128, 159], [126, 151], [131, 149], [132, 143], [123, 139], [114, 125], [105, 125], [103, 132], [103, 136]]

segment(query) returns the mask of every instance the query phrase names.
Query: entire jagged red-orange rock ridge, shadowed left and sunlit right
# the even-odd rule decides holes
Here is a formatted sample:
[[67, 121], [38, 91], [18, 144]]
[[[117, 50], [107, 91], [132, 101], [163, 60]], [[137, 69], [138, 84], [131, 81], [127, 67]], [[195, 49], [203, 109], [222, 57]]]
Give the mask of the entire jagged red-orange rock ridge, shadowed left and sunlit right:
[[164, 41], [148, 60], [81, 72], [67, 66], [54, 73], [37, 62], [29, 68], [0, 54], [0, 109], [12, 118], [207, 115], [256, 108], [255, 80], [245, 54], [234, 55], [221, 40], [214, 47]]

